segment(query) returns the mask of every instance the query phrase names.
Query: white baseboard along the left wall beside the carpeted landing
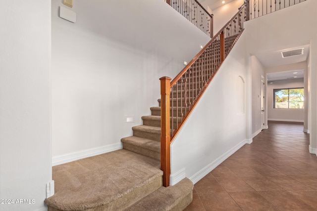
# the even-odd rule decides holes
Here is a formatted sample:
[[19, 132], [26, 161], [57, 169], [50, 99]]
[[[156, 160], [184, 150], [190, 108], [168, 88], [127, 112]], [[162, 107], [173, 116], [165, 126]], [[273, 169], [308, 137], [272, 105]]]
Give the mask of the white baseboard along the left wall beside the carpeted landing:
[[60, 165], [60, 164], [65, 164], [68, 162], [76, 161], [79, 159], [83, 158], [88, 158], [92, 157], [95, 155], [101, 155], [107, 152], [112, 152], [114, 150], [119, 150], [122, 149], [123, 145], [122, 142], [115, 143], [115, 144], [109, 144], [101, 147], [96, 147], [96, 148], [91, 148], [87, 150], [82, 150], [78, 152], [73, 152], [65, 155], [59, 155], [59, 156], [54, 156], [52, 158], [52, 166]]

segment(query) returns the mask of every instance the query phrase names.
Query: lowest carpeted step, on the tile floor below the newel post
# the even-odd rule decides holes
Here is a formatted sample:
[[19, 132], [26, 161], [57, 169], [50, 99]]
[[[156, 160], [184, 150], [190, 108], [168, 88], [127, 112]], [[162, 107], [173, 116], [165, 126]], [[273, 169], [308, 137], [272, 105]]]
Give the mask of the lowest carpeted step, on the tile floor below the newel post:
[[174, 186], [161, 187], [124, 211], [182, 211], [193, 198], [194, 185], [188, 178]]

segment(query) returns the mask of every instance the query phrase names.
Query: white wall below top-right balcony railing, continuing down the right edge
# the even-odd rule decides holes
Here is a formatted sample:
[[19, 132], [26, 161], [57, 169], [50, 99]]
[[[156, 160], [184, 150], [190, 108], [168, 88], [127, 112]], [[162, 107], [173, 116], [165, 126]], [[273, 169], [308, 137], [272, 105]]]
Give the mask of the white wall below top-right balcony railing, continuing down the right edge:
[[[309, 75], [310, 144], [317, 149], [317, 1], [307, 0], [244, 24], [247, 53], [254, 54], [290, 46], [311, 44]], [[300, 15], [305, 14], [305, 15]], [[272, 24], [274, 23], [274, 24]]]

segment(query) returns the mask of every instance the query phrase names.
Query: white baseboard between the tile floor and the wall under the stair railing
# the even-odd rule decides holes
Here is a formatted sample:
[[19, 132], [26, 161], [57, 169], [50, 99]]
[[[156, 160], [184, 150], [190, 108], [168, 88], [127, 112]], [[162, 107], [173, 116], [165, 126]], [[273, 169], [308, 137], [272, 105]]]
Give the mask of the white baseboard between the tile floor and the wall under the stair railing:
[[196, 182], [201, 180], [204, 176], [206, 176], [208, 173], [210, 173], [213, 169], [219, 166], [219, 164], [221, 164], [223, 161], [229, 158], [233, 153], [235, 153], [238, 149], [240, 149], [245, 144], [246, 144], [246, 140], [241, 141], [240, 143], [235, 145], [233, 148], [228, 150], [226, 153], [224, 153], [222, 156], [220, 156], [215, 161], [213, 161], [211, 164], [206, 166], [204, 169], [201, 169], [200, 171], [195, 173], [189, 179], [192, 180], [192, 182], [195, 184]]

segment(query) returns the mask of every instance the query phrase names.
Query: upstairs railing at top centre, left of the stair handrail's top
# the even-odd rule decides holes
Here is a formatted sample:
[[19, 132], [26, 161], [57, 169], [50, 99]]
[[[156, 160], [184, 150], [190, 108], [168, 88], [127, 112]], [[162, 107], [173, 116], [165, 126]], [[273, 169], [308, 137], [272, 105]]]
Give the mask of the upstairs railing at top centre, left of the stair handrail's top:
[[213, 15], [197, 0], [165, 0], [175, 10], [197, 26], [209, 37], [213, 37]]

